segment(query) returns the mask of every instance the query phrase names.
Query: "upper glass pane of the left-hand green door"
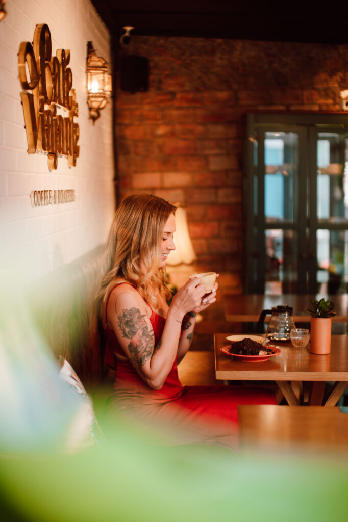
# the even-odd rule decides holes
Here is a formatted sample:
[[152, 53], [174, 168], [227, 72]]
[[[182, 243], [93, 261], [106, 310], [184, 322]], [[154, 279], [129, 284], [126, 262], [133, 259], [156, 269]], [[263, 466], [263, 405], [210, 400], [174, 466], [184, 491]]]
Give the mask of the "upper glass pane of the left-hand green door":
[[264, 140], [264, 213], [266, 223], [293, 222], [297, 209], [298, 135], [266, 132]]

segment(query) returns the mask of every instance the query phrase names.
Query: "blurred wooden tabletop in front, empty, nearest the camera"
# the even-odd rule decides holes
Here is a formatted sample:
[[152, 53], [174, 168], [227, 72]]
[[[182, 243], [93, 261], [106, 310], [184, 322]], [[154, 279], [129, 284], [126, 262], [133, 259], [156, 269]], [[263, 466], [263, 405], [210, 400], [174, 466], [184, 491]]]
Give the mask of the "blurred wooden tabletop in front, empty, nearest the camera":
[[310, 451], [348, 452], [348, 413], [340, 408], [300, 406], [238, 406], [242, 445]]

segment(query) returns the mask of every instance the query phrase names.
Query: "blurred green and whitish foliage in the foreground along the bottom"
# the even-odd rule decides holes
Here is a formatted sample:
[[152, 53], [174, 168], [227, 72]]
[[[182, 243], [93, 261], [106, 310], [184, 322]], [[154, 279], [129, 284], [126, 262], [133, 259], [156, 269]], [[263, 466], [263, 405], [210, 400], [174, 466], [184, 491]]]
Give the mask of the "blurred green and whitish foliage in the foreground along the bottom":
[[20, 294], [2, 291], [2, 522], [346, 522], [346, 458], [165, 447], [116, 417], [103, 419], [96, 445], [68, 453], [79, 397], [60, 381]]

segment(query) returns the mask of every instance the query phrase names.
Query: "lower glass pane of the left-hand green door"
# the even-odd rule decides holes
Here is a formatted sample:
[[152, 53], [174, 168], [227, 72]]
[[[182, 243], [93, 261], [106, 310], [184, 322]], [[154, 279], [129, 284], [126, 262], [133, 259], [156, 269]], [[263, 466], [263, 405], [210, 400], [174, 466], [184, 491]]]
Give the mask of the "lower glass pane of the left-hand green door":
[[266, 294], [297, 291], [297, 233], [265, 230]]

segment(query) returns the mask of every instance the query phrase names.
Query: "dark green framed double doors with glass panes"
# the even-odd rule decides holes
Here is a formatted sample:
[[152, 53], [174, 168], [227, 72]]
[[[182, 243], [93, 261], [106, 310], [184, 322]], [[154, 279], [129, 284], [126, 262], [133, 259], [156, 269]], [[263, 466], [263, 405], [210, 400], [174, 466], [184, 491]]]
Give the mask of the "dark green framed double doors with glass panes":
[[348, 134], [331, 115], [326, 119], [248, 116], [244, 201], [249, 293], [346, 291]]

